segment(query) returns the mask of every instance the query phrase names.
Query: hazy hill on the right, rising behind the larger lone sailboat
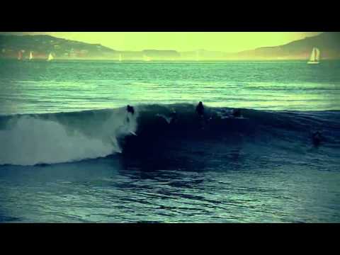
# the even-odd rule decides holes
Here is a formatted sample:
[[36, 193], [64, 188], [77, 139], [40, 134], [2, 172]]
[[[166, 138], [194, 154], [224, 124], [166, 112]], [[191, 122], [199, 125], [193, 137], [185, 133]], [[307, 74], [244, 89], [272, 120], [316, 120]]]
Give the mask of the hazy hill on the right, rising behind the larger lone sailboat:
[[246, 50], [225, 55], [232, 59], [300, 59], [307, 60], [313, 47], [321, 51], [322, 59], [340, 58], [340, 33], [325, 32], [302, 40], [295, 40], [276, 47], [259, 47], [255, 50]]

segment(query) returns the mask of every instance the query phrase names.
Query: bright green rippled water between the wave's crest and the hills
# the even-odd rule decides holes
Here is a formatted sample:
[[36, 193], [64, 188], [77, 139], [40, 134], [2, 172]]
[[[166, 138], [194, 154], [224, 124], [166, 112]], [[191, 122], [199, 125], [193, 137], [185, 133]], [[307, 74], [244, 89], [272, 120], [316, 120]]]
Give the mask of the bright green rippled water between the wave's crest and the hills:
[[0, 62], [0, 113], [196, 103], [339, 110], [340, 62]]

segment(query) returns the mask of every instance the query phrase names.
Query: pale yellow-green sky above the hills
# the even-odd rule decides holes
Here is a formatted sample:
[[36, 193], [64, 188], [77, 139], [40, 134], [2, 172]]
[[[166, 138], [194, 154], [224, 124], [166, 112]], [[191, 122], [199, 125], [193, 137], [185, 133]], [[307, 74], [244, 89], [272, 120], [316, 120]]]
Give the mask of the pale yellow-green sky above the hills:
[[[113, 50], [215, 50], [238, 52], [277, 46], [319, 32], [30, 32], [81, 42], [101, 43]], [[19, 33], [20, 34], [20, 33]], [[21, 33], [23, 34], [23, 33]]]

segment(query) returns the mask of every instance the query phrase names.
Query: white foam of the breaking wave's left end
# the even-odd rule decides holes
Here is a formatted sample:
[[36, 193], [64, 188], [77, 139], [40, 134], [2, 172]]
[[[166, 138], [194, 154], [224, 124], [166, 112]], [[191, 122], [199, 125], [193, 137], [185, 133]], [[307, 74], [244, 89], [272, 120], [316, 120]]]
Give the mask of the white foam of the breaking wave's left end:
[[[0, 130], [0, 164], [34, 165], [74, 162], [121, 152], [118, 137], [137, 129], [137, 114], [126, 121], [125, 109], [93, 125], [91, 135], [69, 132], [67, 123], [20, 116]], [[86, 127], [89, 128], [89, 127]]]

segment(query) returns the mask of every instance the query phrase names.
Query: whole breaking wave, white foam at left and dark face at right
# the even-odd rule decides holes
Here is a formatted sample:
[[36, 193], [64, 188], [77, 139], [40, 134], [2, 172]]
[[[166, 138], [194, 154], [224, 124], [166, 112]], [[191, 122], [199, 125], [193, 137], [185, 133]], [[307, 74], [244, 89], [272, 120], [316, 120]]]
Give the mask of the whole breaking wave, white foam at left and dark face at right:
[[238, 145], [241, 138], [260, 150], [289, 149], [311, 144], [316, 130], [322, 132], [325, 146], [338, 147], [340, 142], [339, 111], [242, 109], [242, 118], [230, 118], [231, 110], [205, 107], [204, 120], [193, 104], [141, 105], [133, 116], [125, 108], [0, 116], [0, 164], [55, 164], [120, 152], [129, 160], [153, 159], [182, 145], [195, 148], [201, 146], [198, 142], [213, 141], [205, 148], [210, 150], [221, 142]]

